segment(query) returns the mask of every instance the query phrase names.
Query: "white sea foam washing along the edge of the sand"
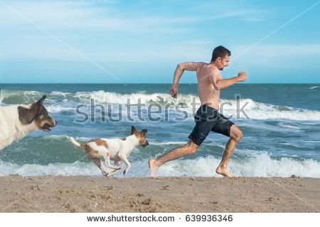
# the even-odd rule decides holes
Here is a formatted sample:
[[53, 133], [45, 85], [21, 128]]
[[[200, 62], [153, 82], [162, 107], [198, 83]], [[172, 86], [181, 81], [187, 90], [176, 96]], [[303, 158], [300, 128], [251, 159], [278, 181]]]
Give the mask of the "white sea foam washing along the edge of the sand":
[[[148, 160], [132, 162], [128, 176], [146, 177], [149, 174]], [[158, 176], [220, 176], [215, 173], [220, 158], [207, 156], [196, 159], [177, 159], [160, 167]], [[122, 164], [122, 168], [123, 168]], [[290, 157], [273, 159], [266, 152], [257, 152], [244, 159], [231, 158], [229, 170], [234, 176], [320, 177], [320, 163], [314, 159], [296, 160]], [[111, 169], [110, 169], [111, 171]], [[12, 164], [0, 161], [0, 174], [21, 176], [101, 176], [100, 169], [90, 162], [38, 164]], [[122, 177], [122, 171], [116, 177]]]

